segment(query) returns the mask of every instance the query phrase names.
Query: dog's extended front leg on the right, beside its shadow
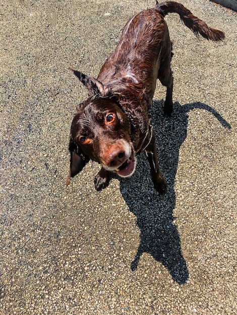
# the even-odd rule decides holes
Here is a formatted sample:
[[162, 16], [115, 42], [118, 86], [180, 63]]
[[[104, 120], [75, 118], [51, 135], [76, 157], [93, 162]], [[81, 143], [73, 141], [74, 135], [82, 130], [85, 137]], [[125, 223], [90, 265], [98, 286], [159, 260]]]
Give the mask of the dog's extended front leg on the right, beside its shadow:
[[151, 141], [145, 149], [150, 168], [151, 168], [151, 179], [154, 184], [155, 190], [158, 191], [159, 194], [164, 195], [167, 193], [167, 184], [160, 173], [160, 168], [158, 164], [157, 150], [155, 144], [155, 135], [153, 130], [151, 130]]

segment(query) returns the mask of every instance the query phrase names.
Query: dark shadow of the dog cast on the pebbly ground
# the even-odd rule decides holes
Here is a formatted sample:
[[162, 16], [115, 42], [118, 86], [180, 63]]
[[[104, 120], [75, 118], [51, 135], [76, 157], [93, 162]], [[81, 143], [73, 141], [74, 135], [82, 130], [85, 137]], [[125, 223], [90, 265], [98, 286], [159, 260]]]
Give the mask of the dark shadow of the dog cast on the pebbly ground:
[[141, 230], [140, 245], [131, 269], [136, 270], [142, 254], [149, 253], [167, 268], [174, 281], [184, 284], [189, 278], [189, 271], [182, 255], [180, 235], [173, 223], [173, 209], [179, 150], [187, 136], [187, 113], [195, 108], [204, 109], [211, 112], [223, 127], [229, 129], [230, 125], [214, 109], [203, 103], [184, 106], [175, 103], [171, 118], [164, 117], [162, 105], [162, 101], [153, 101], [150, 117], [156, 136], [161, 173], [167, 181], [168, 193], [159, 196], [154, 190], [144, 153], [138, 156], [137, 170], [129, 181], [120, 179], [120, 189], [130, 211], [136, 215], [137, 225]]

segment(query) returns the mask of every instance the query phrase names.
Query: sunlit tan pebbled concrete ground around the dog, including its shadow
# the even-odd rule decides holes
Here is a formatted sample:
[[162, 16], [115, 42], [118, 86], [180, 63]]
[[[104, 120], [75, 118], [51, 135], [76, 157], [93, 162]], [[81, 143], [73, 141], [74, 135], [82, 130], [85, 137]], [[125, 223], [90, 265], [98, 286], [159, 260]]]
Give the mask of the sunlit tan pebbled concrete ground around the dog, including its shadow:
[[182, 0], [225, 32], [166, 18], [174, 112], [157, 83], [151, 121], [168, 194], [145, 154], [96, 192], [89, 163], [66, 188], [69, 130], [126, 21], [154, 1], [0, 1], [0, 313], [236, 314], [236, 13]]

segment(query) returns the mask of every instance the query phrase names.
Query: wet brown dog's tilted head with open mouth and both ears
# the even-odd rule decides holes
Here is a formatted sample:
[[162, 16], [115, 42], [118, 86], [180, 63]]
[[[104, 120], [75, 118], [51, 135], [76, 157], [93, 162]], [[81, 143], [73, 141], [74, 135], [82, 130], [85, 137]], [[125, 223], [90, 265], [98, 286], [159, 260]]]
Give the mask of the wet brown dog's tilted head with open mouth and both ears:
[[130, 119], [108, 87], [89, 75], [76, 70], [74, 73], [86, 86], [89, 98], [72, 121], [67, 185], [89, 160], [122, 177], [131, 176], [136, 168], [136, 158]]

